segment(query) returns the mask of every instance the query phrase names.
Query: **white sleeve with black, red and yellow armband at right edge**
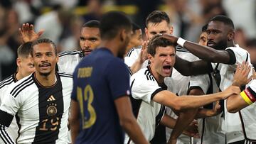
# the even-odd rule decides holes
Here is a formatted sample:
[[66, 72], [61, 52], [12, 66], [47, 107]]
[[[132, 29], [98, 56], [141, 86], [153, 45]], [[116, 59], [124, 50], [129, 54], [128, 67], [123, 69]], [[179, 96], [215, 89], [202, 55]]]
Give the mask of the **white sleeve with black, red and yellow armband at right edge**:
[[256, 79], [250, 82], [249, 86], [240, 93], [242, 99], [245, 100], [247, 104], [252, 104], [256, 101]]

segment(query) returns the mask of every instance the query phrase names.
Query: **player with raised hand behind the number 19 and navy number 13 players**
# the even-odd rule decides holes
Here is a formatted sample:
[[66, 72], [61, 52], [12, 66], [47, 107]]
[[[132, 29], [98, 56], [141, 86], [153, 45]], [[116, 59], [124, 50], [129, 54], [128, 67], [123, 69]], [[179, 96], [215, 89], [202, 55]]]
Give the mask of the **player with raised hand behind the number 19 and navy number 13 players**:
[[[96, 20], [88, 21], [82, 26], [79, 41], [81, 50], [60, 52], [58, 54], [58, 67], [56, 67], [58, 71], [73, 74], [82, 57], [89, 55], [92, 50], [95, 50], [100, 45], [99, 27], [100, 22]], [[33, 30], [33, 25], [28, 23], [23, 24], [18, 31], [23, 42], [37, 40], [43, 33], [43, 31], [36, 33]]]

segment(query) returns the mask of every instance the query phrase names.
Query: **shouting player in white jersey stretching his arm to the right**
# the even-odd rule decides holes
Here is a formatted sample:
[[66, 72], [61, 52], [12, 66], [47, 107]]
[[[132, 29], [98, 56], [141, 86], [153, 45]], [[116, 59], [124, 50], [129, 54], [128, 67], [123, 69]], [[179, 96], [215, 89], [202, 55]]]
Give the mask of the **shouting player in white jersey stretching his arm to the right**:
[[[224, 92], [204, 96], [176, 96], [167, 91], [164, 78], [169, 77], [175, 64], [176, 50], [174, 43], [157, 35], [149, 41], [147, 52], [150, 65], [139, 70], [131, 77], [132, 104], [134, 116], [144, 131], [147, 140], [154, 136], [156, 127], [163, 123], [165, 106], [176, 111], [198, 108], [219, 99], [225, 99], [233, 92], [240, 92], [238, 87], [229, 87]], [[127, 141], [128, 138], [126, 138]], [[169, 143], [176, 143], [171, 140]]]

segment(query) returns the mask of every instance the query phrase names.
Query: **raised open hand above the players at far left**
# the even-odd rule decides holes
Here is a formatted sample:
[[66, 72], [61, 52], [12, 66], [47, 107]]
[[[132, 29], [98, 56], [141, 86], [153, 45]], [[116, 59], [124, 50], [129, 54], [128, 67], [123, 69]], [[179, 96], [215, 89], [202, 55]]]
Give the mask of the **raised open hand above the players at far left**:
[[34, 31], [33, 25], [29, 23], [23, 23], [21, 28], [18, 28], [18, 33], [23, 41], [23, 43], [34, 41], [40, 38], [43, 34], [43, 30], [40, 30], [38, 33]]

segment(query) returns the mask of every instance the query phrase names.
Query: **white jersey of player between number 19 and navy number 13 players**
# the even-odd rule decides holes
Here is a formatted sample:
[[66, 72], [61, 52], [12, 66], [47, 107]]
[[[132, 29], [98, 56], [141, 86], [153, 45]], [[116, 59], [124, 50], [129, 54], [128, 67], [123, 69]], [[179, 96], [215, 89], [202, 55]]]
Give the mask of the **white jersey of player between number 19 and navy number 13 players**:
[[84, 56], [81, 51], [68, 51], [58, 54], [58, 71], [73, 74], [75, 67]]

